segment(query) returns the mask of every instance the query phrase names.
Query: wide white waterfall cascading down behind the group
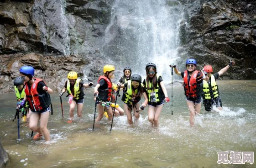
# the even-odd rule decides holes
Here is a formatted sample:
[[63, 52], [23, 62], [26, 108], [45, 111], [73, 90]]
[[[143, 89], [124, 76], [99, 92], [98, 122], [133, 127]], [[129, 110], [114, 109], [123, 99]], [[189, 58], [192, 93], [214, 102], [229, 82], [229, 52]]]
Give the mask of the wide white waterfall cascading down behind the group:
[[166, 0], [116, 0], [106, 28], [103, 56], [118, 69], [132, 68], [145, 76], [145, 65], [153, 62], [164, 81], [170, 81], [169, 64], [178, 58], [179, 22], [182, 5]]

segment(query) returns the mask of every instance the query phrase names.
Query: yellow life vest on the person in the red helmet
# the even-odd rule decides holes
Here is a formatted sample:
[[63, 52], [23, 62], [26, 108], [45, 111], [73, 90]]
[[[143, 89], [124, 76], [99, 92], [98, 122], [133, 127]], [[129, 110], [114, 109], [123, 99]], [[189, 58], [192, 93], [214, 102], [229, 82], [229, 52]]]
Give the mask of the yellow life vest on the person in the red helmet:
[[[218, 97], [219, 90], [218, 90], [218, 85], [215, 81], [214, 75], [211, 75], [211, 85], [212, 85], [211, 90], [212, 90], [213, 98]], [[205, 80], [203, 80], [203, 92], [204, 92], [204, 99], [212, 98], [212, 95], [210, 93], [209, 84]]]

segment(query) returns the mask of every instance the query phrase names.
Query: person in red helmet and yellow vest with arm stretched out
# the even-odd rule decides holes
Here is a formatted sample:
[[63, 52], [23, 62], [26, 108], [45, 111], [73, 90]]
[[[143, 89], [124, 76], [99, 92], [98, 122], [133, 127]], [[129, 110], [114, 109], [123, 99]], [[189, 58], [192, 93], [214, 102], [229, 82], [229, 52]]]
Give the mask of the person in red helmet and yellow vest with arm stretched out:
[[222, 100], [219, 96], [219, 86], [216, 83], [216, 80], [225, 72], [228, 71], [235, 62], [231, 61], [225, 68], [222, 68], [219, 72], [212, 74], [213, 69], [211, 65], [205, 65], [203, 70], [207, 72], [207, 77], [209, 81], [203, 81], [203, 106], [206, 111], [211, 111], [212, 106], [216, 106], [217, 109], [222, 110]]

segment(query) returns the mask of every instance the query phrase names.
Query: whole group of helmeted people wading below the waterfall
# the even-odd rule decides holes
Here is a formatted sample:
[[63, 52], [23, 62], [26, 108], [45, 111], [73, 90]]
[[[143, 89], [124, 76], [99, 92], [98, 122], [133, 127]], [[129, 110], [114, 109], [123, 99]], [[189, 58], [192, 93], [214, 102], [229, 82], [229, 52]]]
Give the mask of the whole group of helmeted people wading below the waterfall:
[[[225, 73], [228, 68], [234, 65], [234, 61], [230, 62], [225, 68], [218, 73], [212, 75], [213, 69], [211, 65], [206, 65], [201, 72], [196, 70], [197, 62], [195, 59], [187, 59], [184, 72], [178, 71], [175, 64], [172, 68], [177, 75], [181, 75], [184, 79], [184, 91], [187, 106], [190, 111], [190, 125], [194, 125], [194, 115], [200, 113], [201, 95], [203, 96], [203, 104], [206, 111], [212, 109], [212, 105], [222, 109], [222, 102], [219, 97], [219, 88], [216, 79]], [[162, 76], [157, 73], [156, 65], [148, 63], [145, 67], [146, 78], [142, 78], [138, 74], [131, 75], [131, 68], [125, 67], [124, 75], [119, 79], [117, 84], [112, 83], [115, 78], [115, 67], [113, 65], [105, 65], [103, 67], [103, 75], [101, 75], [94, 87], [94, 100], [96, 101], [98, 115], [96, 122], [99, 122], [105, 113], [109, 121], [113, 115], [126, 114], [128, 124], [135, 124], [140, 117], [141, 110], [148, 105], [148, 121], [152, 127], [159, 126], [159, 117], [165, 102], [169, 102], [168, 93], [165, 89]], [[29, 128], [36, 132], [34, 140], [40, 139], [42, 135], [46, 141], [50, 140], [50, 133], [47, 129], [47, 123], [50, 116], [50, 94], [53, 90], [47, 87], [46, 83], [38, 78], [34, 78], [34, 68], [28, 65], [19, 69], [20, 77], [14, 80], [15, 93], [18, 100], [17, 108], [26, 109], [26, 119]], [[81, 117], [84, 104], [84, 88], [91, 87], [92, 82], [85, 84], [78, 74], [74, 71], [67, 75], [68, 80], [59, 93], [61, 97], [66, 91], [69, 95], [69, 120], [73, 122], [75, 106], [77, 106], [77, 115]], [[124, 103], [123, 110], [117, 103], [119, 90], [123, 90], [122, 101]], [[203, 90], [203, 94], [201, 94]], [[140, 100], [144, 97], [144, 101], [140, 104]], [[96, 107], [95, 107], [96, 108]], [[134, 115], [134, 121], [132, 119]], [[38, 122], [40, 120], [40, 126]]]

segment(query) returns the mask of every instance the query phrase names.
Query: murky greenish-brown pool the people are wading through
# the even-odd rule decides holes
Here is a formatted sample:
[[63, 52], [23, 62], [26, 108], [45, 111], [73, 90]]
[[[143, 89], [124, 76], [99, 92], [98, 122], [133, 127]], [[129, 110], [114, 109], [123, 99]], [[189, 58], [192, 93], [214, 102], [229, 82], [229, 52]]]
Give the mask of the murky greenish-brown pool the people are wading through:
[[[174, 87], [171, 103], [165, 103], [159, 131], [150, 129], [147, 109], [137, 126], [128, 127], [126, 116], [114, 118], [112, 133], [106, 118], [92, 131], [93, 90], [85, 91], [83, 118], [66, 123], [69, 106], [63, 96], [64, 119], [60, 101], [53, 94], [54, 115], [48, 128], [51, 141], [31, 140], [23, 124], [17, 140], [16, 100], [13, 94], [0, 97], [0, 140], [11, 157], [11, 168], [219, 168], [256, 167], [246, 164], [217, 164], [218, 151], [256, 152], [255, 81], [219, 81], [222, 112], [197, 115], [195, 127], [189, 126], [189, 112], [181, 86]], [[168, 89], [169, 96], [171, 90]], [[121, 99], [118, 100], [122, 104]], [[122, 105], [121, 105], [122, 106]], [[203, 105], [202, 105], [203, 106]], [[255, 157], [254, 157], [255, 158]]]

